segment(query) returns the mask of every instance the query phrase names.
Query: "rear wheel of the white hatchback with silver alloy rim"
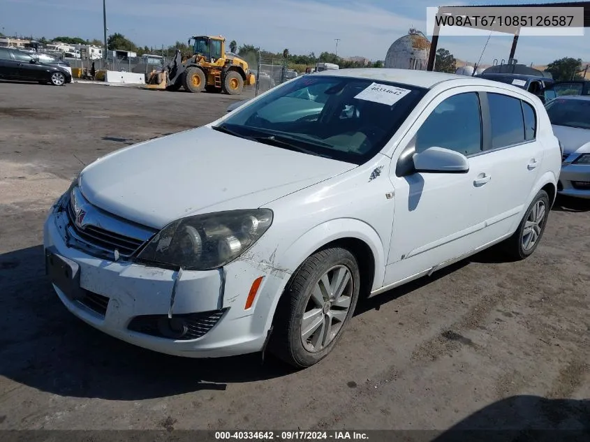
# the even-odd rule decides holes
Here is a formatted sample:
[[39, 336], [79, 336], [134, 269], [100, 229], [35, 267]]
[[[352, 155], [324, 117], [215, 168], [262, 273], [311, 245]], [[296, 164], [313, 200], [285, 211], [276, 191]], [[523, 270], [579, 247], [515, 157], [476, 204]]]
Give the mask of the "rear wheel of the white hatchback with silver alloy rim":
[[523, 260], [531, 256], [545, 233], [550, 209], [549, 195], [543, 190], [539, 191], [526, 209], [516, 232], [501, 244], [504, 253], [514, 260]]

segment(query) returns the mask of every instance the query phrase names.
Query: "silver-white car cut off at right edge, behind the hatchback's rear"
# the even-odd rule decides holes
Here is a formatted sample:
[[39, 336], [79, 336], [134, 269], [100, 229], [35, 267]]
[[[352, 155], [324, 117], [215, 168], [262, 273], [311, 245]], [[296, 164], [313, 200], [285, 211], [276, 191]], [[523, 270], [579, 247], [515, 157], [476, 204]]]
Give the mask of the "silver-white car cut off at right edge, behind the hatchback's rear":
[[546, 108], [553, 133], [563, 145], [557, 192], [590, 198], [590, 96], [560, 96]]

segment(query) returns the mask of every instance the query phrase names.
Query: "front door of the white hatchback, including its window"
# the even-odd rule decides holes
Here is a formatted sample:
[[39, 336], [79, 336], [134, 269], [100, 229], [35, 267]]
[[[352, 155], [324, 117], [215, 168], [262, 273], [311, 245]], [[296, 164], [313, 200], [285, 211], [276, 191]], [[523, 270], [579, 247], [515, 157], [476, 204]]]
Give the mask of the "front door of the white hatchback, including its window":
[[[481, 155], [478, 92], [445, 91], [420, 119], [392, 158], [395, 214], [385, 285], [429, 272], [489, 241], [485, 221], [494, 180], [486, 155]], [[464, 154], [469, 172], [415, 172], [413, 153], [428, 147]]]

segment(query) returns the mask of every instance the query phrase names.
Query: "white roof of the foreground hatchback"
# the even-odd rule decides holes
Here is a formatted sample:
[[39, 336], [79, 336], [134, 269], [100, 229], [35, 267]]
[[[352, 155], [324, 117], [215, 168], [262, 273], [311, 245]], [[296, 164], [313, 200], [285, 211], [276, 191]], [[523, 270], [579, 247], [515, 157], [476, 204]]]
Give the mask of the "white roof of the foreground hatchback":
[[348, 77], [348, 78], [362, 78], [367, 80], [397, 82], [408, 84], [408, 86], [424, 87], [432, 89], [436, 84], [442, 82], [453, 81], [455, 86], [492, 86], [500, 87], [502, 89], [510, 89], [512, 91], [522, 91], [521, 88], [512, 86], [511, 84], [499, 83], [495, 80], [485, 80], [485, 78], [471, 77], [469, 75], [459, 75], [451, 73], [441, 73], [432, 71], [414, 71], [412, 69], [392, 69], [392, 68], [349, 68], [339, 70], [328, 70], [311, 73], [307, 75], [325, 75], [330, 77]]

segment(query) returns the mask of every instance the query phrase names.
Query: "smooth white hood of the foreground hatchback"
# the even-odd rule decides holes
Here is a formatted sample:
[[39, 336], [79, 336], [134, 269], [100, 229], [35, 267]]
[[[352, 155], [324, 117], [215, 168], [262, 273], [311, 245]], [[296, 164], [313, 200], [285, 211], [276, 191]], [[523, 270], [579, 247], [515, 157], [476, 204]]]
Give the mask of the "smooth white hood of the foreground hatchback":
[[201, 127], [119, 149], [88, 165], [97, 207], [153, 228], [191, 214], [257, 208], [357, 167]]

